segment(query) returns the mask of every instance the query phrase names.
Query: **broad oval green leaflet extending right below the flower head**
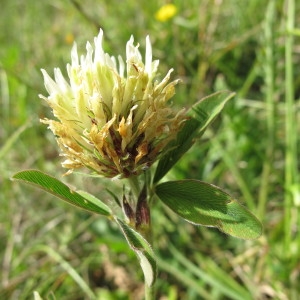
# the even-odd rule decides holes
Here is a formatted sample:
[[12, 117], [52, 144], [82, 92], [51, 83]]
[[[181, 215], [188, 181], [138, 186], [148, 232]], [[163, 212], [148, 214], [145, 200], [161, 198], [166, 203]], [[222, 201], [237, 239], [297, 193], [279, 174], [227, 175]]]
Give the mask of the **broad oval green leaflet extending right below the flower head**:
[[262, 225], [238, 201], [220, 188], [199, 180], [178, 180], [159, 184], [156, 194], [161, 201], [185, 220], [242, 239], [256, 239]]

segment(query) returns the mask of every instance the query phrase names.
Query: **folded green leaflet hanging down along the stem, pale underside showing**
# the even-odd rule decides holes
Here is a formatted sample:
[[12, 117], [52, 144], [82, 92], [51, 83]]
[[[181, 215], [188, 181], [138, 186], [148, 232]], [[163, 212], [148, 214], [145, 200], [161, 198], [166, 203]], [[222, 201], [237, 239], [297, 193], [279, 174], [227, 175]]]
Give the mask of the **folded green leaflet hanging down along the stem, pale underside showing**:
[[115, 221], [120, 226], [130, 248], [135, 252], [139, 259], [146, 284], [149, 287], [152, 286], [157, 276], [157, 270], [154, 252], [150, 244], [137, 231], [129, 227], [120, 219], [115, 218]]

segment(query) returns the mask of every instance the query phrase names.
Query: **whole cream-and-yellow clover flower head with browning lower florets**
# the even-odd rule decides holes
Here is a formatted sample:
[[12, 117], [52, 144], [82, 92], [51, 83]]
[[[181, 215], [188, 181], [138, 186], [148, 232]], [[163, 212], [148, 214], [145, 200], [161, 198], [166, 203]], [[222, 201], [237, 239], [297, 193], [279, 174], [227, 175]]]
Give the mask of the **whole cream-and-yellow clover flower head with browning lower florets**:
[[[45, 99], [58, 119], [43, 119], [57, 137], [66, 160], [62, 166], [85, 166], [105, 177], [130, 177], [151, 166], [176, 138], [185, 117], [175, 113], [167, 101], [178, 81], [170, 73], [155, 81], [159, 62], [152, 61], [149, 37], [145, 63], [133, 37], [123, 59], [109, 56], [102, 48], [103, 32], [95, 38], [95, 51], [87, 43], [87, 54], [78, 58], [74, 45], [69, 82], [60, 69], [55, 81], [42, 70], [48, 97]], [[94, 54], [93, 54], [94, 52]], [[126, 68], [126, 75], [125, 75]]]

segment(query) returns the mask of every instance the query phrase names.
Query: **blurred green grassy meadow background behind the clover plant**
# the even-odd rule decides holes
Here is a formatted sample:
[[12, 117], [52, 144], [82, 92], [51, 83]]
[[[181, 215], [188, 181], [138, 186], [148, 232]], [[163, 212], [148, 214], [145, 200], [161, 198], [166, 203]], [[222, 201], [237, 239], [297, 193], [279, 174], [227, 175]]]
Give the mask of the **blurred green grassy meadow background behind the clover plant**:
[[[237, 96], [168, 174], [214, 183], [257, 215], [255, 241], [195, 227], [165, 207], [152, 212], [157, 299], [299, 299], [300, 3], [185, 0], [155, 19], [163, 1], [2, 0], [0, 10], [0, 299], [142, 299], [143, 275], [114, 224], [10, 177], [35, 168], [65, 172], [52, 134], [40, 68], [53, 74], [84, 53], [99, 28], [105, 49], [125, 54], [150, 35], [161, 74], [182, 83], [174, 103], [209, 93]], [[63, 178], [108, 200], [108, 180]], [[115, 184], [115, 183], [114, 183]]]

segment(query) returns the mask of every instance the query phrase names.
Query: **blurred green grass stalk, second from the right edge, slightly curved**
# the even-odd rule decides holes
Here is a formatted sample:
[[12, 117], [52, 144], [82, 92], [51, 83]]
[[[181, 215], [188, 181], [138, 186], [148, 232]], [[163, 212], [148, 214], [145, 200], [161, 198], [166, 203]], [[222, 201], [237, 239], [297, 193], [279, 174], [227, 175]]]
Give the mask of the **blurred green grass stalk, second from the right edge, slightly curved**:
[[267, 139], [266, 152], [261, 175], [261, 185], [258, 196], [258, 216], [263, 218], [269, 194], [269, 177], [272, 171], [273, 153], [274, 153], [274, 134], [275, 134], [275, 101], [274, 101], [274, 19], [275, 19], [275, 1], [269, 1], [264, 25], [265, 41], [265, 63], [264, 78], [266, 88], [266, 125]]

